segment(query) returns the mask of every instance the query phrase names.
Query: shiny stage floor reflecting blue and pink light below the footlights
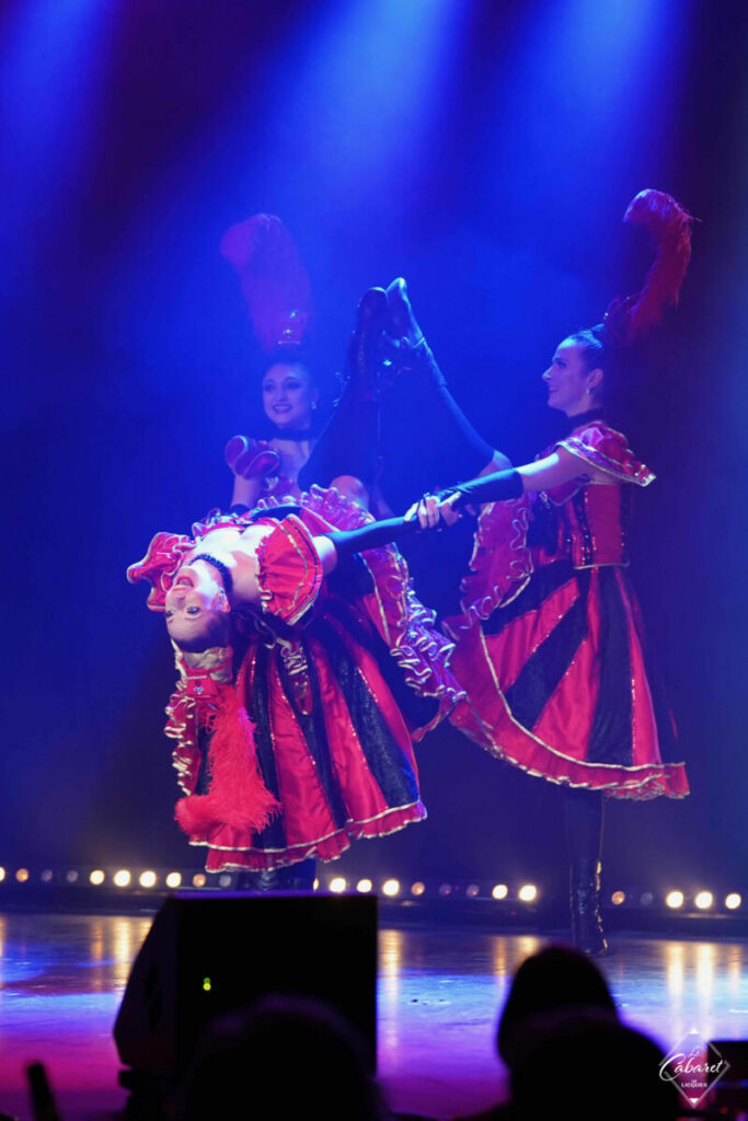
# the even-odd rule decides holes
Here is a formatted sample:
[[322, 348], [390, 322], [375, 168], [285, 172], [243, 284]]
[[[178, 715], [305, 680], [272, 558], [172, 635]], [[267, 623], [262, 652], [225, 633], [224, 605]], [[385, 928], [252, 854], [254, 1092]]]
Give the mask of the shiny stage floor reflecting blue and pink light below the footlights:
[[[124, 1093], [112, 1023], [151, 916], [0, 915], [0, 1112], [30, 1115], [24, 1066], [47, 1065], [64, 1121]], [[379, 1072], [397, 1112], [449, 1118], [506, 1094], [493, 1053], [517, 965], [548, 938], [469, 926], [379, 935]], [[748, 943], [617, 935], [602, 962], [624, 1019], [669, 1050], [692, 1028], [748, 1038]]]

